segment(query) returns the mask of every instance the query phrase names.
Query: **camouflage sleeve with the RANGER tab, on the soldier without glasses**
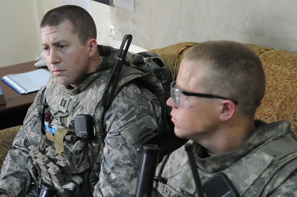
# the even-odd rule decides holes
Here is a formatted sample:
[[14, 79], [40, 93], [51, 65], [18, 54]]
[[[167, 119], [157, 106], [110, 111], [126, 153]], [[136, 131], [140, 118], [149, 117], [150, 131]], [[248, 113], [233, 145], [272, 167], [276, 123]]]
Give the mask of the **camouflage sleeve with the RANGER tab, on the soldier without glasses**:
[[108, 133], [94, 196], [127, 196], [139, 172], [140, 142], [162, 129], [161, 107], [148, 90], [132, 84], [116, 96], [105, 118]]

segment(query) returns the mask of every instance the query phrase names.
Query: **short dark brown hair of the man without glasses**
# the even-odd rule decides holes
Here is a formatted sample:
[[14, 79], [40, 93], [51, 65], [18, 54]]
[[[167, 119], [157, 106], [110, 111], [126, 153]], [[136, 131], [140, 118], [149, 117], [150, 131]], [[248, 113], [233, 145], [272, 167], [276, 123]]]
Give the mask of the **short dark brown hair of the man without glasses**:
[[77, 34], [80, 42], [85, 45], [89, 38], [97, 38], [97, 29], [92, 16], [82, 7], [64, 5], [48, 11], [42, 18], [40, 28], [58, 26], [69, 20], [73, 33]]

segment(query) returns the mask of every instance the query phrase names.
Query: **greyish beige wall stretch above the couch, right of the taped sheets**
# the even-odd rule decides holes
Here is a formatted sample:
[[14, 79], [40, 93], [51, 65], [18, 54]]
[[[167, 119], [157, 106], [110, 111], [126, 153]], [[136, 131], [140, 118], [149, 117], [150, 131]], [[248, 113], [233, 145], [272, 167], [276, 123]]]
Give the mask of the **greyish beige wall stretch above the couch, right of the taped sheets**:
[[135, 10], [112, 8], [111, 23], [146, 49], [225, 39], [297, 53], [296, 0], [135, 0]]

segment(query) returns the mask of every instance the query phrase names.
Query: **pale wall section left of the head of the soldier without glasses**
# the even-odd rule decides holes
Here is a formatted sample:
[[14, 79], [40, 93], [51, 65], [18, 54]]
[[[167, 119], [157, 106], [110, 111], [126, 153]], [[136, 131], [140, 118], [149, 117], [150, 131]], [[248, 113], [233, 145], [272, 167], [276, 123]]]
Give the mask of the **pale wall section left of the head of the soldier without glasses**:
[[33, 61], [41, 53], [40, 17], [54, 5], [48, 2], [0, 0], [0, 67]]

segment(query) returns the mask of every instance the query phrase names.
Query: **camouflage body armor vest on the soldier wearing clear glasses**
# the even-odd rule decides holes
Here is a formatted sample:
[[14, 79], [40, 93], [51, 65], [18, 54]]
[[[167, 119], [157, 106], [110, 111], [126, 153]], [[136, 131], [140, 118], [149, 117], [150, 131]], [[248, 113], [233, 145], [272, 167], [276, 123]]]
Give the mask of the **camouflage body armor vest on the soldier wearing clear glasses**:
[[[162, 177], [167, 182], [173, 183], [173, 185], [171, 183], [166, 185], [159, 182], [157, 190], [162, 196], [182, 197], [197, 195], [187, 154], [183, 155], [177, 154], [173, 156], [173, 158], [179, 158], [179, 161], [182, 160], [180, 157], [184, 157], [184, 163], [181, 163], [180, 169], [175, 169], [175, 173], [172, 172], [174, 174], [170, 170], [163, 171]], [[297, 141], [292, 137], [274, 140], [263, 144], [246, 156], [233, 164], [232, 167], [219, 172], [229, 177], [240, 196], [266, 196], [296, 170]], [[207, 173], [199, 169], [198, 171], [202, 184], [216, 174]], [[276, 181], [276, 177], [277, 180], [282, 181]], [[214, 185], [214, 187], [217, 186]], [[179, 188], [184, 192], [178, 192], [174, 188]]]

